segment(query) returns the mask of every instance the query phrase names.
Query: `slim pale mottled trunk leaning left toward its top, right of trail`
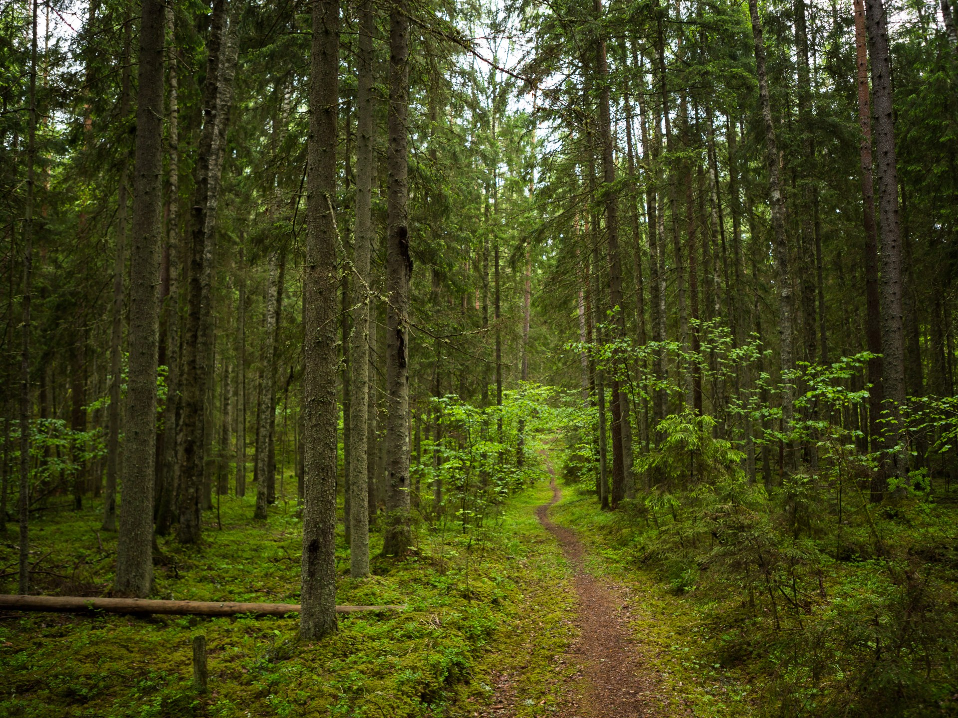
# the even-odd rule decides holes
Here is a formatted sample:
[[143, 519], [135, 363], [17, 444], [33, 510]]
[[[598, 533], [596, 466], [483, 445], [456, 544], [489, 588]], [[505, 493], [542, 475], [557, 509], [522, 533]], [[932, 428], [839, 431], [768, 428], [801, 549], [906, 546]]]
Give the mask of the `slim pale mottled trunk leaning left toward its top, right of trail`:
[[[757, 0], [749, 0], [748, 10], [752, 19], [752, 36], [755, 40], [755, 65], [759, 75], [759, 103], [765, 130], [765, 164], [768, 168], [768, 196], [772, 213], [772, 229], [775, 234], [775, 263], [778, 270], [779, 335], [782, 356], [782, 430], [791, 431], [794, 413], [794, 388], [789, 376], [793, 368], [791, 330], [791, 275], [788, 270], [788, 238], [785, 228], [785, 203], [779, 180], [779, 153], [775, 141], [775, 123], [768, 100], [768, 79], [765, 74], [765, 47], [762, 37], [762, 22], [759, 19]], [[788, 447], [787, 447], [788, 448]], [[790, 466], [791, 452], [788, 453]]]

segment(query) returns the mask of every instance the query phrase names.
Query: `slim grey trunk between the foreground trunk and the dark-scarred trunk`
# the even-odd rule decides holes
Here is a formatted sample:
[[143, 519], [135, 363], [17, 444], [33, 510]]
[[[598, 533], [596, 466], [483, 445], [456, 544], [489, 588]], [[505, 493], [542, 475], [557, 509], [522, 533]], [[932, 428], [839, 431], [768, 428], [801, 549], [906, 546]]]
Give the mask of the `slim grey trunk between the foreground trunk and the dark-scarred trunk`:
[[350, 389], [350, 575], [369, 574], [369, 291], [373, 249], [373, 139], [376, 114], [373, 85], [373, 0], [359, 8], [358, 85], [356, 88], [356, 198], [353, 257], [353, 375]]

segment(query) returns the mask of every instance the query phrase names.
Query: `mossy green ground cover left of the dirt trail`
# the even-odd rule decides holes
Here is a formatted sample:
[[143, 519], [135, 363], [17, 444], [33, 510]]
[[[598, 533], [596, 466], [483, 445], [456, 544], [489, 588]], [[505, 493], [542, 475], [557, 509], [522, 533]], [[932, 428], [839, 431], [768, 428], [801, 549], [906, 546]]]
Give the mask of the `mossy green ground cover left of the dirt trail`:
[[[568, 572], [539, 527], [544, 482], [473, 530], [429, 535], [401, 562], [348, 577], [339, 536], [337, 602], [406, 604], [402, 613], [341, 615], [339, 631], [297, 641], [295, 617], [0, 618], [0, 715], [10, 716], [460, 716], [497, 700], [493, 673], [514, 670], [520, 715], [547, 714], [564, 674], [552, 658], [574, 638]], [[154, 597], [298, 602], [300, 520], [277, 505], [253, 524], [253, 501], [223, 497], [205, 517], [201, 547], [160, 539]], [[88, 509], [34, 521], [34, 590], [103, 595], [116, 536]], [[0, 549], [0, 591], [15, 591], [12, 533]], [[381, 542], [373, 536], [373, 550]], [[207, 639], [210, 693], [192, 688], [194, 635]]]

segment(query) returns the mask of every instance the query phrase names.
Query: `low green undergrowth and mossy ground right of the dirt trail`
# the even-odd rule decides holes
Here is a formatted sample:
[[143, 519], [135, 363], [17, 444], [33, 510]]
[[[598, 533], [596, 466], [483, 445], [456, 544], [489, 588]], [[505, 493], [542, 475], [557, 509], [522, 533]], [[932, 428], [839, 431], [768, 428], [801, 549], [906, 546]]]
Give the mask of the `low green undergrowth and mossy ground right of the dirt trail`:
[[836, 560], [833, 533], [796, 538], [780, 527], [779, 493], [761, 487], [614, 512], [577, 488], [555, 520], [577, 529], [593, 571], [636, 596], [647, 658], [696, 716], [958, 715], [947, 497], [859, 511]]

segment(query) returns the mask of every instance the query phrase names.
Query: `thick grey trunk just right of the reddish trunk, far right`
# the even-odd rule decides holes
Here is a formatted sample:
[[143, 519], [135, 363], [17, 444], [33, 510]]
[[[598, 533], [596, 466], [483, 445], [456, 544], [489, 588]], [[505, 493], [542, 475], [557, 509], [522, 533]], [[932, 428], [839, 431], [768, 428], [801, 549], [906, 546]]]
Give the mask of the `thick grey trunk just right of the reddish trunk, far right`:
[[[872, 98], [878, 151], [878, 218], [881, 276], [882, 388], [887, 416], [884, 426], [885, 478], [906, 480], [908, 454], [902, 440], [901, 407], [904, 405], [904, 337], [901, 308], [901, 228], [899, 227], [898, 168], [895, 156], [895, 118], [892, 66], [888, 47], [887, 14], [883, 0], [866, 0], [865, 24], [872, 56]], [[877, 498], [873, 486], [873, 499]]]

